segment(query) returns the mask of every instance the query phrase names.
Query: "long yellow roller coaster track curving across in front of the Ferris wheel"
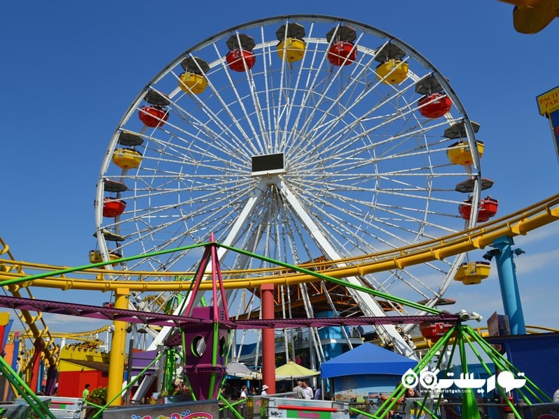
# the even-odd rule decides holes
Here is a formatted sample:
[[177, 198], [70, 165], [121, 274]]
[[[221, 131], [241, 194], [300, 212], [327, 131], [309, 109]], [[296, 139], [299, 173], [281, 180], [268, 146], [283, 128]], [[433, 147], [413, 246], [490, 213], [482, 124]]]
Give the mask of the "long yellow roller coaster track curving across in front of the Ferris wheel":
[[[345, 278], [386, 270], [397, 270], [410, 265], [427, 263], [436, 259], [444, 259], [458, 253], [475, 249], [484, 249], [499, 237], [525, 235], [530, 231], [546, 226], [559, 219], [559, 194], [551, 196], [539, 203], [530, 205], [523, 210], [514, 212], [500, 219], [480, 224], [469, 230], [463, 230], [436, 240], [421, 242], [409, 247], [402, 247], [365, 256], [357, 256], [340, 260], [328, 260], [319, 263], [301, 265], [306, 269], [317, 270], [329, 277]], [[6, 247], [6, 244], [0, 242]], [[176, 250], [176, 249], [175, 249]], [[6, 251], [1, 251], [0, 256]], [[161, 252], [163, 253], [163, 252]], [[120, 260], [145, 257], [132, 256]], [[59, 288], [63, 291], [117, 291], [126, 288], [134, 292], [146, 291], [188, 291], [191, 282], [181, 281], [181, 277], [189, 277], [194, 272], [143, 272], [117, 271], [103, 269], [115, 260], [94, 263], [83, 267], [61, 267], [40, 265], [0, 258], [1, 284], [9, 284], [12, 292], [20, 287], [40, 286]], [[108, 266], [110, 267], [110, 266]], [[41, 272], [29, 276], [25, 272]], [[67, 274], [73, 274], [68, 277]], [[294, 272], [289, 269], [259, 270], [224, 270], [224, 288], [254, 288], [262, 284], [291, 285], [303, 282], [319, 281], [320, 279], [305, 272]], [[115, 281], [115, 279], [122, 279]], [[166, 281], [165, 279], [169, 279]], [[202, 284], [201, 291], [211, 289], [211, 283]]]

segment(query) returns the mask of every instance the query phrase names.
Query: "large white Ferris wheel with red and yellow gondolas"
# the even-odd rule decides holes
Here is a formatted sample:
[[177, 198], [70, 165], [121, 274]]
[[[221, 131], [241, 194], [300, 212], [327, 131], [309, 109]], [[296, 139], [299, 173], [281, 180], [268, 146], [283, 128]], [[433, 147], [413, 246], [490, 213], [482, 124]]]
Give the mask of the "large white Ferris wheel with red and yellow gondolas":
[[[126, 110], [101, 164], [92, 254], [213, 234], [293, 265], [335, 264], [442, 237], [476, 221], [477, 128], [437, 68], [384, 31], [316, 15], [242, 24], [170, 61]], [[467, 216], [457, 184], [467, 184]], [[122, 269], [181, 272], [200, 256], [171, 251]], [[347, 280], [432, 306], [463, 257]], [[273, 267], [231, 251], [219, 258], [223, 270]], [[340, 288], [278, 289], [277, 316], [415, 314]], [[231, 295], [239, 314], [258, 310], [254, 295]], [[143, 296], [141, 308], [168, 310], [180, 297]]]

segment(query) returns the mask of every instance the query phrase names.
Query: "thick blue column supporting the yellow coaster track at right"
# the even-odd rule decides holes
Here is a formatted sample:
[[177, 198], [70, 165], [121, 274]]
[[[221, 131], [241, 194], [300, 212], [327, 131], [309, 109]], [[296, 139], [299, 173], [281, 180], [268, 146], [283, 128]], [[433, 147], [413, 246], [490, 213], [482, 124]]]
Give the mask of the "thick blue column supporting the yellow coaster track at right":
[[[516, 266], [513, 260], [513, 253], [520, 254], [523, 251], [516, 249], [513, 252], [511, 249], [512, 244], [514, 244], [512, 237], [504, 236], [495, 239], [491, 247], [498, 250], [498, 252], [494, 251], [494, 256], [499, 274], [502, 305], [504, 314], [509, 318], [511, 335], [525, 335], [526, 325], [524, 323], [520, 291], [518, 291], [518, 282], [516, 281]], [[491, 253], [491, 251], [488, 253]]]

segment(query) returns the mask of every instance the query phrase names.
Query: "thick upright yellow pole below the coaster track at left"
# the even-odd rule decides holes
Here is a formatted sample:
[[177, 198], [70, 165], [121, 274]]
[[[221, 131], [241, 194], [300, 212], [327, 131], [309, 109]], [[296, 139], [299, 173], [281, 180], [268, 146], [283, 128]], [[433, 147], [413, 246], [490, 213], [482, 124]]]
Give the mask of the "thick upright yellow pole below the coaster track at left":
[[[115, 309], [128, 309], [128, 297], [130, 293], [127, 288], [117, 288], [115, 293]], [[124, 360], [126, 359], [126, 326], [125, 321], [114, 321], [110, 343], [110, 368], [109, 383], [107, 386], [107, 400], [112, 400], [111, 406], [122, 404], [122, 380], [124, 378]]]

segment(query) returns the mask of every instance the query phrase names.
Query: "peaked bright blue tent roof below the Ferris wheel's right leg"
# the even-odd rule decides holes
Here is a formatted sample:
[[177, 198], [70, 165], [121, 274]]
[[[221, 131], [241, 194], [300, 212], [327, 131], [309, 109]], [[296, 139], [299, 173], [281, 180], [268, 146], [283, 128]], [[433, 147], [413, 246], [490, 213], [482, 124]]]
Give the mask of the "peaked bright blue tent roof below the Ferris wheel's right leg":
[[358, 374], [402, 375], [416, 365], [416, 360], [367, 343], [322, 362], [320, 369], [322, 378], [330, 378]]

